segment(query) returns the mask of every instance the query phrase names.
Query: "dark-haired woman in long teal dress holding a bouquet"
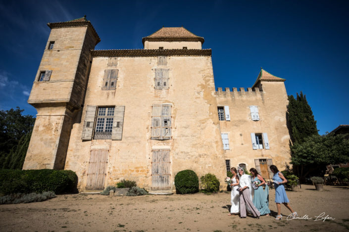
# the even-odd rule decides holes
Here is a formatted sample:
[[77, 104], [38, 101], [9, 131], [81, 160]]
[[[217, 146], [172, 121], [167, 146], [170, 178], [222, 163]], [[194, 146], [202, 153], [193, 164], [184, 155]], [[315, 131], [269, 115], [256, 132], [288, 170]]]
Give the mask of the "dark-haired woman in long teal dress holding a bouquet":
[[[269, 216], [270, 209], [268, 185], [266, 185], [264, 179], [258, 174], [255, 168], [251, 168], [249, 171], [252, 174], [252, 186], [255, 188], [252, 201], [253, 205], [258, 209], [260, 215]], [[265, 185], [265, 189], [263, 189], [263, 185]]]

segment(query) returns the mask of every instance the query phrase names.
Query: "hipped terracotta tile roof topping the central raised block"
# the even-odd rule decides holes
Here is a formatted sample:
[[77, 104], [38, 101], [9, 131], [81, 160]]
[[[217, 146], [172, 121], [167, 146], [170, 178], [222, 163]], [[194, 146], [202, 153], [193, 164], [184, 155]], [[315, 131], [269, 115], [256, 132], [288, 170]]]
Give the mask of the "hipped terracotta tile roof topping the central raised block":
[[144, 37], [143, 44], [145, 41], [200, 41], [203, 43], [204, 39], [184, 27], [162, 27], [150, 36]]

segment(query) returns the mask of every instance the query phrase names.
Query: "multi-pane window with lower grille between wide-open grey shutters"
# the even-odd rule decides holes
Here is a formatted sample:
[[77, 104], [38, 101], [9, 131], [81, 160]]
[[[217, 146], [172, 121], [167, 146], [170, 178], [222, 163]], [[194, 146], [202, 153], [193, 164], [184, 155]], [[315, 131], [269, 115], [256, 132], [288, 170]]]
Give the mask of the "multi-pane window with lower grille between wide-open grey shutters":
[[94, 139], [111, 139], [115, 107], [99, 107]]

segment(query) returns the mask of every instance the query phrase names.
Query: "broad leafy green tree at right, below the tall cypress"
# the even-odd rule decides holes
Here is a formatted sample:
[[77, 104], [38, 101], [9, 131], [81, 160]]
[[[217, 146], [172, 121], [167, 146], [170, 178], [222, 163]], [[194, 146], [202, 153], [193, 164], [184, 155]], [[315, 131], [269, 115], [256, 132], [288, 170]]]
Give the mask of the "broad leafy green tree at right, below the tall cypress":
[[291, 163], [300, 167], [299, 176], [319, 175], [327, 164], [348, 162], [349, 140], [345, 136], [312, 135], [291, 146]]

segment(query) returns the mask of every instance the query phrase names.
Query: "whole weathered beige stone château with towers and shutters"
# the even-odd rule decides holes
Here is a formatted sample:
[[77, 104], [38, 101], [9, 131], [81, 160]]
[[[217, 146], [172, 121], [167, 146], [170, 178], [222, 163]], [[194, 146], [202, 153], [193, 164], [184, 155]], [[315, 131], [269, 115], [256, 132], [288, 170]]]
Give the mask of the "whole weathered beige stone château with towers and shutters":
[[49, 26], [24, 169], [73, 170], [81, 191], [129, 179], [168, 192], [181, 170], [223, 184], [227, 165], [266, 175], [264, 159], [289, 161], [284, 79], [261, 70], [253, 91], [215, 91], [211, 50], [183, 27], [143, 38], [145, 49], [93, 50], [100, 38], [86, 18]]

